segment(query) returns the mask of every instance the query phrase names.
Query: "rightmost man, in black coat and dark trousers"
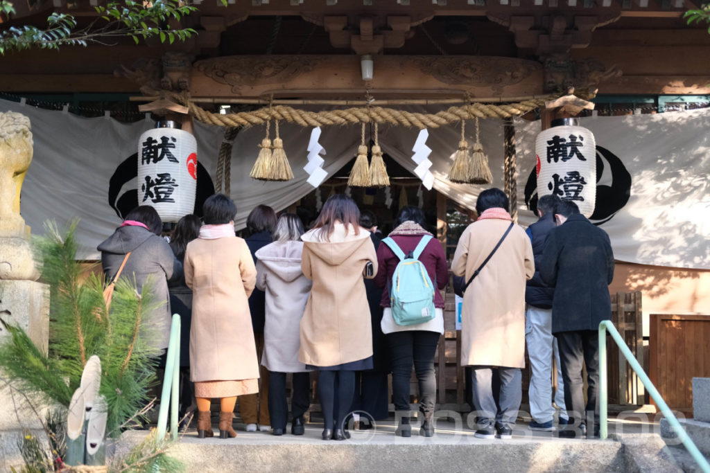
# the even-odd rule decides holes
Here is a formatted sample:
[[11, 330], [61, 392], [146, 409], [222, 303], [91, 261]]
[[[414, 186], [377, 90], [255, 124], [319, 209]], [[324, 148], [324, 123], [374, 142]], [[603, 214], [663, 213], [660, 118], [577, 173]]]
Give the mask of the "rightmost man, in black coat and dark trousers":
[[[559, 202], [555, 219], [558, 228], [547, 237], [540, 276], [546, 284], [555, 286], [552, 333], [559, 345], [564, 401], [569, 420], [579, 421], [579, 430], [560, 430], [559, 436], [573, 438], [577, 433], [585, 436], [587, 428], [591, 428], [588, 423], [594, 423], [596, 436], [599, 435], [597, 334], [599, 323], [611, 318], [608, 285], [613, 279], [614, 256], [609, 236], [580, 215], [574, 202]], [[586, 406], [582, 362], [587, 372]]]

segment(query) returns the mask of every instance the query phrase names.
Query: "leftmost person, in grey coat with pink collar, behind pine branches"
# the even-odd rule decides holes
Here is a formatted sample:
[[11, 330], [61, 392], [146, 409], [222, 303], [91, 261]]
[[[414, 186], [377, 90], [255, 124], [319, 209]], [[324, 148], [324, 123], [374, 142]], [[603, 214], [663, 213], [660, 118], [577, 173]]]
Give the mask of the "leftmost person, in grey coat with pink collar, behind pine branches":
[[138, 206], [126, 215], [126, 220], [114, 234], [99, 244], [101, 265], [107, 281], [116, 276], [125, 262], [121, 277], [135, 280], [136, 290], [151, 281], [155, 301], [165, 304], [156, 309], [148, 323], [155, 327], [156, 348], [165, 349], [170, 341], [170, 296], [168, 279], [182, 277], [182, 264], [173, 255], [167, 241], [160, 237], [163, 222], [151, 206]]

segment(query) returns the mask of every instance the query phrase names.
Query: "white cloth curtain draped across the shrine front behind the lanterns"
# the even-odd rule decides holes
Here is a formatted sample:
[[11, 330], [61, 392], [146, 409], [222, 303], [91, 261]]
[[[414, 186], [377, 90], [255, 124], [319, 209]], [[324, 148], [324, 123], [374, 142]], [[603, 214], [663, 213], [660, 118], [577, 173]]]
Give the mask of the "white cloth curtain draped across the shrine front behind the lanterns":
[[[435, 111], [408, 107], [411, 111]], [[119, 123], [111, 118], [82, 118], [11, 101], [0, 101], [0, 111], [16, 111], [31, 121], [34, 155], [21, 196], [21, 211], [33, 233], [43, 233], [49, 219], [66, 225], [81, 218], [77, 237], [83, 259], [97, 259], [96, 246], [110, 235], [135, 202], [136, 147], [153, 121]], [[668, 112], [654, 115], [583, 118], [580, 126], [596, 138], [596, 209], [591, 220], [611, 237], [617, 260], [645, 265], [710, 269], [710, 111]], [[473, 127], [467, 129], [473, 130]], [[537, 201], [535, 137], [540, 121], [515, 121], [518, 169], [518, 220], [536, 220], [528, 209]], [[313, 190], [302, 169], [307, 163], [311, 128], [282, 124], [280, 135], [295, 179], [261, 182], [249, 178], [264, 138], [263, 127], [241, 130], [231, 159], [231, 198], [238, 209], [237, 228], [258, 204], [283, 210]], [[414, 172], [412, 147], [419, 130], [382, 126], [383, 151]], [[224, 130], [195, 123], [198, 195], [211, 189]], [[273, 137], [272, 137], [273, 138]], [[479, 192], [503, 189], [503, 125], [481, 120], [481, 142], [493, 172], [491, 186], [454, 184], [447, 174], [459, 143], [459, 127], [429, 130], [430, 172], [434, 189], [467, 208], [474, 208]], [[474, 143], [467, 133], [469, 145]], [[327, 154], [324, 170], [332, 176], [354, 158], [359, 126], [325, 127], [320, 144]], [[413, 174], [414, 175], [414, 174]], [[542, 194], [546, 194], [547, 191]], [[324, 198], [325, 196], [323, 196]]]

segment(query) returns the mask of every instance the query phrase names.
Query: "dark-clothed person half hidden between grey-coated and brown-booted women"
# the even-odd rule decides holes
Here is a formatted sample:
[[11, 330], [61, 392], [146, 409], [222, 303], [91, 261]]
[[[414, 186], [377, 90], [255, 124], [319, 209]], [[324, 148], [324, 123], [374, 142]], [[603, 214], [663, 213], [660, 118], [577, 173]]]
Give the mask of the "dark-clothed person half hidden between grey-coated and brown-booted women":
[[[181, 264], [185, 263], [187, 243], [200, 235], [200, 217], [186, 215], [178, 221], [170, 238], [170, 249]], [[195, 386], [190, 381], [190, 323], [192, 321], [192, 289], [185, 284], [185, 277], [168, 282], [170, 308], [180, 314], [180, 418], [195, 411]]]

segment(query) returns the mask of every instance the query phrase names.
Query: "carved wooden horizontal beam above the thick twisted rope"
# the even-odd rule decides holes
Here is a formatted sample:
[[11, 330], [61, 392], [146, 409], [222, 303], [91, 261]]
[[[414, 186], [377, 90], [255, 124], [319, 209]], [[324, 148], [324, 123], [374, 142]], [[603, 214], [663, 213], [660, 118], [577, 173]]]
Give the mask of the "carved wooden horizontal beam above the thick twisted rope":
[[542, 65], [512, 57], [381, 56], [373, 80], [355, 55], [232, 56], [195, 63], [190, 94], [201, 97], [506, 97], [542, 93]]

